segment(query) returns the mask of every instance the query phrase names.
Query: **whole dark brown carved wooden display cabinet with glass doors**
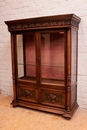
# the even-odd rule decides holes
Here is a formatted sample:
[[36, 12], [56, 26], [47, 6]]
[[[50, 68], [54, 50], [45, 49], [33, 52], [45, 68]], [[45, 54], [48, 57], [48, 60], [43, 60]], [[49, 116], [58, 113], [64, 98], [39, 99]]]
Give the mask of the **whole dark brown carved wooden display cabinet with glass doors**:
[[72, 117], [78, 108], [79, 22], [74, 14], [5, 22], [11, 33], [14, 107]]

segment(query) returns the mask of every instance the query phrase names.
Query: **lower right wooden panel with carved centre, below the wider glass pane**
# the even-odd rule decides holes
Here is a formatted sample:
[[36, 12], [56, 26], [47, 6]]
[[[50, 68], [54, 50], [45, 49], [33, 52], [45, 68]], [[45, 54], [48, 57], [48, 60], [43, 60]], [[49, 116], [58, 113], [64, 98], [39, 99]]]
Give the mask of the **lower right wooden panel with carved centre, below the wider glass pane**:
[[55, 90], [41, 90], [41, 103], [56, 107], [65, 108], [66, 96], [65, 92]]

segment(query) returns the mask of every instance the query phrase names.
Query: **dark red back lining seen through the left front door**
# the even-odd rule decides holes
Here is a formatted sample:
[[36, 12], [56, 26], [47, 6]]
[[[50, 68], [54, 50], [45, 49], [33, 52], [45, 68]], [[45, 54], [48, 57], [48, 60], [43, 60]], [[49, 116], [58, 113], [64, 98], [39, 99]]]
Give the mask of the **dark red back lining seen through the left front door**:
[[25, 74], [26, 77], [35, 80], [36, 77], [36, 58], [35, 58], [35, 42], [34, 33], [24, 35], [25, 45]]

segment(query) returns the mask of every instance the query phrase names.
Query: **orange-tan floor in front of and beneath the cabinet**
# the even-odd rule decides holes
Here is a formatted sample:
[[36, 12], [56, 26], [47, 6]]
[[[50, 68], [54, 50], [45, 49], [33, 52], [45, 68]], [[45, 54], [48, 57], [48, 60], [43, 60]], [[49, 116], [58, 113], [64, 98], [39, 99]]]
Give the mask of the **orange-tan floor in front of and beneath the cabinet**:
[[0, 130], [87, 130], [87, 110], [78, 109], [71, 120], [59, 115], [13, 108], [11, 96], [0, 95]]

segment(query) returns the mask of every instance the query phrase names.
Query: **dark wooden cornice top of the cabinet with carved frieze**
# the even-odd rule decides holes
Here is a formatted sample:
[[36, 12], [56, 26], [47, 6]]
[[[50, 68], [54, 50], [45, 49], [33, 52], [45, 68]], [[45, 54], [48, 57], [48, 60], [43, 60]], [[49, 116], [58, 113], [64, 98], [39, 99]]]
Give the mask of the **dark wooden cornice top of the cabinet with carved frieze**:
[[5, 21], [10, 32], [23, 30], [37, 30], [49, 28], [68, 28], [78, 29], [80, 18], [75, 14], [63, 14], [54, 16], [45, 16], [29, 19], [19, 19]]

